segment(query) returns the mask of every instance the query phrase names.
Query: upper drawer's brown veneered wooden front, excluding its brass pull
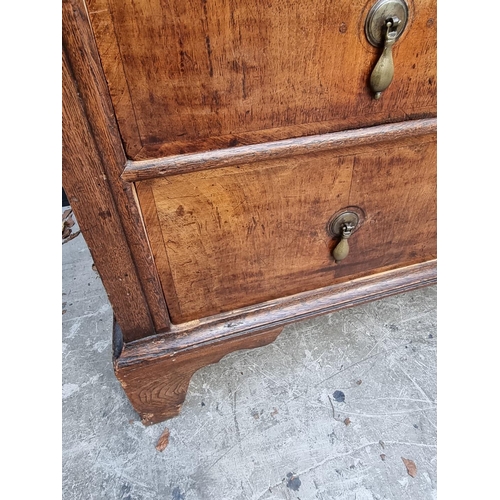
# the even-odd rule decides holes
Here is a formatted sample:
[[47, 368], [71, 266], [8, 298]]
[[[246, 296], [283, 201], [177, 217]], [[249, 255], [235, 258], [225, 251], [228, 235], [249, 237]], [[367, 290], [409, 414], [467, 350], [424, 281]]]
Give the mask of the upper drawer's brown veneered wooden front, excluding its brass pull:
[[434, 116], [435, 0], [409, 1], [376, 101], [375, 0], [87, 0], [131, 159]]

